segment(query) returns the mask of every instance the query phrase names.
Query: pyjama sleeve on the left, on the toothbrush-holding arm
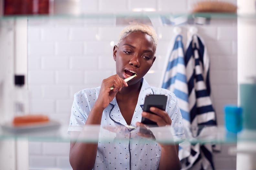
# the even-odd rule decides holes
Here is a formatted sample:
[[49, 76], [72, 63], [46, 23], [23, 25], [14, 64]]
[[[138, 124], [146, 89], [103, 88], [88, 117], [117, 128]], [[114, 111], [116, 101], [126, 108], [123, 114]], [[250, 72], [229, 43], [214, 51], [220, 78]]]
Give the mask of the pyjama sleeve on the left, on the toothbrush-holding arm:
[[81, 131], [86, 120], [87, 114], [85, 114], [84, 104], [87, 101], [83, 98], [83, 95], [76, 93], [74, 95], [74, 101], [71, 108], [71, 116], [69, 120], [68, 134], [71, 131]]

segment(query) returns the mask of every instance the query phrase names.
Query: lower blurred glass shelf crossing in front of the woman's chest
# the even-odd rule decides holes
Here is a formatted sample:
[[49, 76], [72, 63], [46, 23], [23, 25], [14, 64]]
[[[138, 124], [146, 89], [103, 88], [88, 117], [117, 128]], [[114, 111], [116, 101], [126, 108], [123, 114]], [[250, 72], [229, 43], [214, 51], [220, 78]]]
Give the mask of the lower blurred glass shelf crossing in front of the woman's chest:
[[[74, 127], [76, 128], [76, 127]], [[78, 127], [79, 128], [79, 127]], [[100, 127], [99, 125], [85, 126], [82, 129], [80, 138], [78, 141], [84, 143], [94, 143], [101, 140], [102, 142], [120, 142], [123, 140], [140, 140], [148, 141], [152, 140], [152, 136], [149, 138], [138, 136], [136, 133], [139, 131], [138, 127]], [[137, 130], [136, 130], [137, 129]], [[151, 127], [149, 128], [153, 132], [155, 140], [159, 143], [179, 143], [176, 140], [178, 135], [172, 136], [173, 129], [170, 126], [166, 127]], [[128, 130], [128, 131], [127, 131]], [[59, 126], [58, 128], [51, 130], [37, 130], [34, 132], [21, 132], [12, 133], [0, 128], [0, 140], [6, 139], [28, 139], [29, 141], [37, 142], [69, 142], [73, 140], [67, 133], [68, 126]], [[125, 132], [126, 131], [126, 132]], [[127, 137], [127, 132], [129, 135]], [[199, 135], [198, 135], [199, 134]], [[209, 135], [210, 134], [210, 135]], [[256, 131], [243, 130], [238, 134], [227, 132], [223, 126], [204, 126], [204, 127], [188, 127], [185, 128], [185, 142], [189, 143], [212, 143], [212, 144], [227, 144], [236, 143], [237, 141], [255, 142]], [[127, 137], [127, 138], [126, 138]], [[76, 139], [76, 138], [75, 138]]]

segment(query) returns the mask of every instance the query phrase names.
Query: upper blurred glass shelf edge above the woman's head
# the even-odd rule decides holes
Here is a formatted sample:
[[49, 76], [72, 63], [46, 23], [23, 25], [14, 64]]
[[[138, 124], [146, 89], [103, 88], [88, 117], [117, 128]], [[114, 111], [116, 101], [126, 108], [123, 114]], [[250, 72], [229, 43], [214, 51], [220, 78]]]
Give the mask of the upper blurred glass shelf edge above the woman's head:
[[[130, 22], [140, 20], [144, 24], [154, 26], [173, 26], [184, 24], [235, 24], [237, 18], [256, 18], [256, 14], [238, 15], [232, 13], [161, 13], [161, 12], [127, 12], [127, 13], [83, 13], [83, 14], [49, 14], [49, 15], [5, 15], [0, 16], [0, 22], [28, 19], [36, 24], [48, 21], [70, 20], [71, 22], [85, 21], [86, 26], [119, 26], [128, 25]], [[226, 22], [229, 20], [229, 22]]]

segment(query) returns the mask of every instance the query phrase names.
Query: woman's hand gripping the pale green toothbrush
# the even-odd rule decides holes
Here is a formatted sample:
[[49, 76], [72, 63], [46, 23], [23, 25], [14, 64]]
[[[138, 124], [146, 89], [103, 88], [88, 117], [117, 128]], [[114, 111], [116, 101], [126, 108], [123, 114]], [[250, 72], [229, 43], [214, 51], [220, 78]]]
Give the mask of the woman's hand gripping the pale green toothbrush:
[[[110, 90], [112, 86], [114, 89]], [[100, 94], [95, 105], [105, 109], [124, 86], [127, 87], [128, 84], [117, 74], [102, 80]]]

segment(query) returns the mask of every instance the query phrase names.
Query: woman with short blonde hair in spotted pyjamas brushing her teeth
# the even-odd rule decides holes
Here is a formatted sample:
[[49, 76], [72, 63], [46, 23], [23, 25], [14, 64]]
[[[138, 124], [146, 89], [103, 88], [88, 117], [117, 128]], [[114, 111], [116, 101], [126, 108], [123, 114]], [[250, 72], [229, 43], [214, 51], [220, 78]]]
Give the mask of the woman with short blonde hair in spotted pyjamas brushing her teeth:
[[[69, 127], [72, 138], [79, 138], [84, 125], [101, 125], [115, 130], [116, 136], [123, 140], [99, 140], [97, 144], [72, 141], [69, 160], [73, 169], [180, 169], [178, 145], [145, 141], [139, 128], [130, 128], [143, 126], [140, 123], [143, 116], [158, 126], [172, 125], [177, 140], [185, 138], [175, 95], [150, 87], [143, 79], [156, 59], [156, 46], [157, 35], [153, 27], [127, 26], [113, 48], [116, 75], [104, 79], [101, 87], [81, 90], [74, 95]], [[135, 78], [127, 83], [124, 81], [134, 74]], [[146, 94], [166, 94], [166, 111], [151, 107], [156, 115], [143, 112]]]

